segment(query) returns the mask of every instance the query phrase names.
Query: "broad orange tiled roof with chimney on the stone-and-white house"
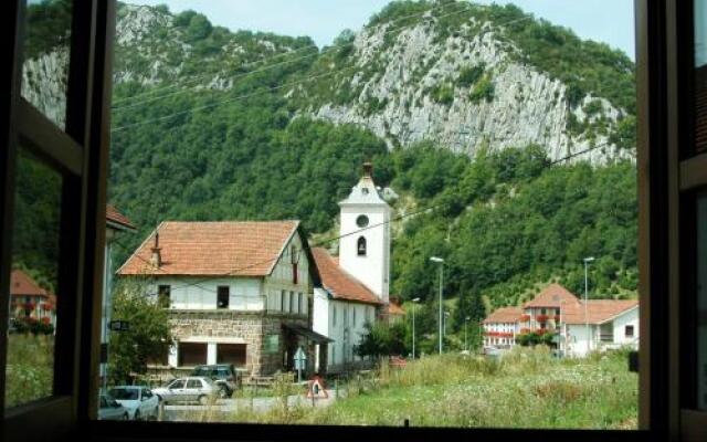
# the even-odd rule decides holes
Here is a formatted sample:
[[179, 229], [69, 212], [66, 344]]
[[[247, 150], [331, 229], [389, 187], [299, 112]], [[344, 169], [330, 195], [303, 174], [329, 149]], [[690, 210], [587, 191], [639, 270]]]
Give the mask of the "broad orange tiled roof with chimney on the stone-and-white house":
[[118, 270], [120, 275], [270, 275], [299, 221], [163, 222], [161, 265], [150, 263], [155, 232]]

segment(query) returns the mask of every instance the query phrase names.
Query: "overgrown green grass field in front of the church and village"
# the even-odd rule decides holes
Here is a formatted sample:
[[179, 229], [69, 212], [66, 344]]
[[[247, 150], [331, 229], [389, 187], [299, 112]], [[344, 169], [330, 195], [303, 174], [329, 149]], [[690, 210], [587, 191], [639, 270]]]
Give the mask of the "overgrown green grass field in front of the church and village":
[[637, 375], [625, 352], [553, 359], [547, 348], [517, 349], [494, 361], [433, 356], [383, 368], [347, 386], [326, 409], [247, 410], [239, 422], [412, 427], [625, 429], [637, 424]]

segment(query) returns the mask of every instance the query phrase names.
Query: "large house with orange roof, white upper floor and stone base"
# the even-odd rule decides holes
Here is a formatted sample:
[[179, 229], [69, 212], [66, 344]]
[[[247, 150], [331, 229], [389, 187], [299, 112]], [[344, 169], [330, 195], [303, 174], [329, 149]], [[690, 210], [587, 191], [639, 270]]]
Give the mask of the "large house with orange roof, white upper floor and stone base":
[[292, 370], [298, 347], [314, 366], [313, 287], [319, 284], [298, 221], [163, 222], [118, 270], [145, 277], [170, 308], [177, 339], [156, 366], [233, 364], [253, 377]]

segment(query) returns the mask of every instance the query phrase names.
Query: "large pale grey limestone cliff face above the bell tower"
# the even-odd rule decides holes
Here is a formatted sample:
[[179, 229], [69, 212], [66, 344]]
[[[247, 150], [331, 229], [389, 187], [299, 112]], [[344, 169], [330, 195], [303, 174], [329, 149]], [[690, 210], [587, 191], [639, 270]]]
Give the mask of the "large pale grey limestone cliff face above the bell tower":
[[[434, 140], [474, 156], [482, 146], [538, 144], [552, 159], [605, 146], [577, 157], [592, 162], [632, 155], [609, 140], [624, 110], [591, 95], [570, 106], [568, 87], [517, 61], [519, 50], [498, 39], [492, 23], [472, 20], [446, 39], [437, 35], [433, 19], [386, 42], [390, 33], [389, 24], [360, 32], [355, 39], [356, 71], [338, 77], [330, 90], [352, 90], [352, 99], [337, 104], [320, 95], [316, 99], [324, 103], [310, 105], [307, 114], [366, 126], [389, 146]], [[377, 72], [367, 75], [371, 65]], [[460, 78], [474, 69], [483, 71], [475, 84]], [[482, 81], [493, 93], [473, 97]], [[571, 124], [581, 129], [571, 130]]]

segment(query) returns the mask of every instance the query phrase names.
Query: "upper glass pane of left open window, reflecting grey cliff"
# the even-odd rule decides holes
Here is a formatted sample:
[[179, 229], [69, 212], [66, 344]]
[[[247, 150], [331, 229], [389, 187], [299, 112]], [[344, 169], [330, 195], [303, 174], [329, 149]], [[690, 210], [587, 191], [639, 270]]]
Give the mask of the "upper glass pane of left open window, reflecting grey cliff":
[[59, 127], [66, 118], [72, 0], [28, 0], [22, 96]]

